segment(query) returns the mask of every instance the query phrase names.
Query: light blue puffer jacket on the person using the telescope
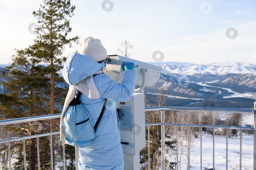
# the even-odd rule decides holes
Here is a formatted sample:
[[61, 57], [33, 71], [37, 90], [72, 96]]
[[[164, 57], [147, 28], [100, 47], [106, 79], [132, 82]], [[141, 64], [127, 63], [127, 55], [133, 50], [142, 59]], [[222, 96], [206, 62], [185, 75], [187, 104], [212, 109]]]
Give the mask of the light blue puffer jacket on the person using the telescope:
[[[79, 54], [79, 57], [81, 56], [83, 55]], [[88, 57], [84, 56], [84, 58], [87, 59]], [[92, 61], [90, 60], [90, 62]], [[77, 62], [77, 66], [73, 65], [72, 67], [79, 68], [82, 65], [86, 68], [86, 65], [90, 64], [88, 68], [91, 68], [90, 62], [80, 64]], [[95, 65], [97, 64], [95, 62]], [[87, 72], [91, 72], [91, 70]], [[69, 73], [63, 72], [65, 80], [67, 75]], [[79, 148], [79, 170], [122, 170], [124, 168], [123, 150], [119, 134], [119, 118], [115, 105], [116, 101], [128, 101], [131, 99], [136, 78], [136, 71], [126, 70], [123, 74], [122, 83], [117, 84], [106, 74], [97, 74], [93, 77], [93, 80], [101, 98], [89, 99], [83, 94], [80, 96], [79, 100], [90, 113], [94, 125], [100, 115], [105, 98], [108, 100], [104, 114], [95, 132], [95, 144], [87, 148]]]

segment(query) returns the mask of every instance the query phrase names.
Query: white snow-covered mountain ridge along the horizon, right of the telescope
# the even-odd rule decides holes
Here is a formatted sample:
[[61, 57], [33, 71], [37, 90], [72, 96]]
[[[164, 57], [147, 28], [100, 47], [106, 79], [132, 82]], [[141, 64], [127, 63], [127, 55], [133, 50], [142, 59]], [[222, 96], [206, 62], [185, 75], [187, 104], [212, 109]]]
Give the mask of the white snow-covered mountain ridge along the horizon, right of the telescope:
[[193, 64], [193, 63], [180, 63], [180, 62], [161, 62], [150, 63], [162, 67], [162, 73], [175, 73], [175, 74], [212, 74], [212, 75], [225, 75], [232, 74], [256, 74], [256, 63], [210, 63], [210, 64]]

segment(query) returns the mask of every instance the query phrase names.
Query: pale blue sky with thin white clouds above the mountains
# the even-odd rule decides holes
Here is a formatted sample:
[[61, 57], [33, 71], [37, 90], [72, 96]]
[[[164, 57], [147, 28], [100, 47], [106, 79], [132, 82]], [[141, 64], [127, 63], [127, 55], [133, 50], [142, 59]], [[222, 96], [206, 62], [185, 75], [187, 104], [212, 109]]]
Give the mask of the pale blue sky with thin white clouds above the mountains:
[[[120, 42], [127, 40], [134, 46], [131, 58], [143, 62], [154, 62], [152, 53], [159, 50], [163, 62], [256, 63], [255, 0], [111, 0], [110, 12], [102, 9], [102, 2], [71, 0], [76, 9], [70, 18], [70, 37], [98, 38], [108, 55], [116, 54]], [[32, 12], [41, 3], [0, 0], [0, 64], [11, 61], [14, 48], [33, 44], [36, 35], [28, 31], [28, 25], [37, 23]], [[237, 30], [235, 39], [226, 36], [228, 28]], [[76, 45], [66, 48], [64, 54], [77, 49]]]

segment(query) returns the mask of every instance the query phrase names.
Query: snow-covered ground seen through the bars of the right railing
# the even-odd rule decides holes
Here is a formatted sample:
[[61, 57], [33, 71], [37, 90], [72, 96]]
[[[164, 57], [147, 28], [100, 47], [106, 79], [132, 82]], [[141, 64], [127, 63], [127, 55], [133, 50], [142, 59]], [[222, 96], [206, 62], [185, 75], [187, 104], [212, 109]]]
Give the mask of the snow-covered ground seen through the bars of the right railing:
[[[180, 145], [180, 144], [179, 144]], [[181, 164], [179, 169], [187, 169], [187, 140], [183, 140]], [[167, 147], [166, 147], [167, 149]], [[166, 159], [176, 162], [176, 151], [170, 150], [165, 154]], [[180, 146], [179, 146], [180, 159]], [[200, 169], [200, 135], [190, 141], [190, 169]], [[211, 134], [202, 133], [202, 168], [213, 167], [213, 137]], [[240, 168], [240, 136], [228, 138], [228, 170]], [[215, 135], [215, 169], [226, 170], [226, 135]], [[253, 169], [253, 135], [242, 136], [242, 168], [241, 170]]]

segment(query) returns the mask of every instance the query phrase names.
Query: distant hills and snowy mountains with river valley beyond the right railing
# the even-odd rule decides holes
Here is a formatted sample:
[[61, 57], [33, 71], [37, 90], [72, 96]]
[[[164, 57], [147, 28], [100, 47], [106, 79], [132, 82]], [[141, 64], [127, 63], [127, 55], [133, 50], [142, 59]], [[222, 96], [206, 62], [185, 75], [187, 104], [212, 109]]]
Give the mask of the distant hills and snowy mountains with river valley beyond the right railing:
[[151, 106], [156, 95], [166, 96], [165, 106], [253, 108], [256, 101], [256, 63], [150, 64], [163, 69], [155, 85], [144, 89]]

